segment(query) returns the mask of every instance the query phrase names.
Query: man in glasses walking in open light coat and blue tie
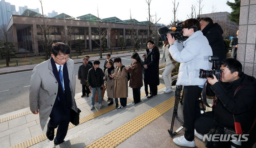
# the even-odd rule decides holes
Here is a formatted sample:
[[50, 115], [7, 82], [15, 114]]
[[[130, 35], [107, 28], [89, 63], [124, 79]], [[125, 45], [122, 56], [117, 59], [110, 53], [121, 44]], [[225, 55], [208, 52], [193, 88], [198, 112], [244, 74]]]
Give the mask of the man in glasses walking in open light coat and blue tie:
[[[74, 61], [70, 48], [64, 43], [52, 45], [51, 58], [34, 67], [30, 82], [30, 110], [39, 113], [42, 130], [47, 124], [47, 138], [54, 144], [64, 142], [70, 122], [70, 111], [77, 112], [75, 103]], [[54, 129], [58, 127], [54, 138]]]

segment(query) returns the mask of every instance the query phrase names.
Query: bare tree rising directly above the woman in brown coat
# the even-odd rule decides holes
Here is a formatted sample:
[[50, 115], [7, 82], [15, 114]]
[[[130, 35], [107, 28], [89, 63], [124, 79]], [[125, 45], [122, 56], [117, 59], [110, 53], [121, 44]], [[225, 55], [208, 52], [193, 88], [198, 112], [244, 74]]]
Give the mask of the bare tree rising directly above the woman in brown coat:
[[139, 29], [135, 29], [135, 25], [134, 25], [134, 22], [132, 20], [132, 14], [130, 12], [130, 24], [128, 24], [129, 26], [129, 34], [131, 36], [131, 40], [132, 40], [132, 46], [133, 46], [133, 52], [136, 52], [135, 50], [135, 46], [137, 45], [138, 43], [138, 40], [139, 40]]

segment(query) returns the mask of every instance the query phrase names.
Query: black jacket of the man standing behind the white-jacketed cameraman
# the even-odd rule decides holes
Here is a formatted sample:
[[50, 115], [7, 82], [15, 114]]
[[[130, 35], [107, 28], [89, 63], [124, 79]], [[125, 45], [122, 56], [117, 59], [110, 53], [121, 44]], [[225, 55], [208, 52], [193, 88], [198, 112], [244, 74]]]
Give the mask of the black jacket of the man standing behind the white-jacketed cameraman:
[[203, 35], [208, 39], [213, 55], [219, 56], [220, 61], [226, 59], [226, 49], [223, 41], [223, 30], [218, 23], [209, 23], [203, 29]]

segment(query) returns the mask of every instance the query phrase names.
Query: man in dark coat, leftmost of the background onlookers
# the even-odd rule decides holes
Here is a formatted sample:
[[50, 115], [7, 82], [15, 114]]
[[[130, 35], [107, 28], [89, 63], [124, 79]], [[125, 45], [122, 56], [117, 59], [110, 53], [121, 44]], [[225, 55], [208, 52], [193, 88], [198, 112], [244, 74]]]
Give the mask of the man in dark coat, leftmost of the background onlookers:
[[[82, 95], [81, 97], [89, 97], [90, 89], [87, 82], [88, 77], [88, 71], [91, 69], [91, 65], [87, 64], [87, 59], [83, 59], [83, 64], [79, 66], [78, 69], [78, 79], [80, 80], [80, 83], [82, 84]], [[88, 85], [88, 86], [87, 86]]]

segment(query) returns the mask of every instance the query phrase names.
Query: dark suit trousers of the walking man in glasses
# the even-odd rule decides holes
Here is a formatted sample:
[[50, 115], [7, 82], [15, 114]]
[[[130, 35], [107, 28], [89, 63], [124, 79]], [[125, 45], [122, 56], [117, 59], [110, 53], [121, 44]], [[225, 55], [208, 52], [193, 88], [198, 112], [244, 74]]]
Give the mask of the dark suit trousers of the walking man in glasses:
[[54, 103], [52, 112], [50, 113], [50, 120], [48, 122], [49, 127], [57, 128], [56, 140], [63, 141], [68, 132], [68, 125], [70, 122], [70, 108], [66, 109], [63, 113], [59, 107], [59, 101]]

